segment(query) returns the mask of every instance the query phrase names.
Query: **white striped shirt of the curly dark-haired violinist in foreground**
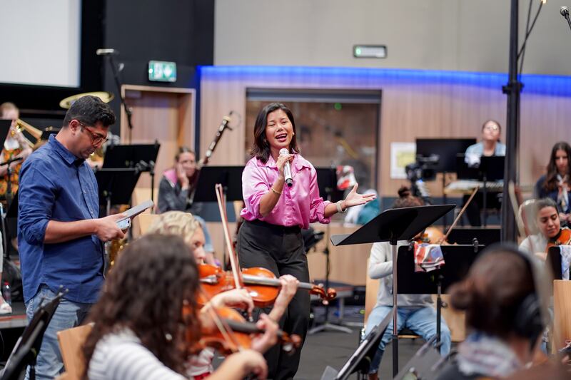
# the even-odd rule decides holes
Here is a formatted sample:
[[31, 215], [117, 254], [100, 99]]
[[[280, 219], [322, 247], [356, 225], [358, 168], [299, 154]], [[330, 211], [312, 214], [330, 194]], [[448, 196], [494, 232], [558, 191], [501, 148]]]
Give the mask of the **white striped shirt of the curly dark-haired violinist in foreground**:
[[182, 380], [159, 361], [128, 329], [101, 339], [89, 361], [90, 380]]

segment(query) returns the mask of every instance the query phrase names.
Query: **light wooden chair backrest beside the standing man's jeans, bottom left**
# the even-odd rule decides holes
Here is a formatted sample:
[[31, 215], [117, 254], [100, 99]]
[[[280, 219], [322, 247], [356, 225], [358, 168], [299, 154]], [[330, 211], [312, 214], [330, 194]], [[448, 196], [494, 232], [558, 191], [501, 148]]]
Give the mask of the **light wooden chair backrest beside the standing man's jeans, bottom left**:
[[84, 371], [85, 362], [81, 353], [81, 346], [83, 346], [92, 328], [91, 324], [84, 324], [58, 332], [59, 349], [66, 369], [66, 380], [79, 379]]

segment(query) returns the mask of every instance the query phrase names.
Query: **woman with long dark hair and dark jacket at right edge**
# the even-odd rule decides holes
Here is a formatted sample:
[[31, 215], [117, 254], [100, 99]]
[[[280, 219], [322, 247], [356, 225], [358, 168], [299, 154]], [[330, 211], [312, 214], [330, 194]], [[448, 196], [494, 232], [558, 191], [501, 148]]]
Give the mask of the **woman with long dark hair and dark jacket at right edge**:
[[535, 184], [537, 198], [549, 197], [557, 203], [562, 226], [571, 224], [571, 146], [565, 141], [555, 143], [551, 150], [547, 173]]

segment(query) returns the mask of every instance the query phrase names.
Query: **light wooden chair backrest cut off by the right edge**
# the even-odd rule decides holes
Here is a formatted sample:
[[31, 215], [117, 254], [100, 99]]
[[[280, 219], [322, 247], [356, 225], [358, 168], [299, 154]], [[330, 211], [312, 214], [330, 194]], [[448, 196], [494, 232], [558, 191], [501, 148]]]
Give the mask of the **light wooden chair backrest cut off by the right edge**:
[[552, 353], [565, 346], [571, 339], [571, 281], [553, 281], [553, 344]]

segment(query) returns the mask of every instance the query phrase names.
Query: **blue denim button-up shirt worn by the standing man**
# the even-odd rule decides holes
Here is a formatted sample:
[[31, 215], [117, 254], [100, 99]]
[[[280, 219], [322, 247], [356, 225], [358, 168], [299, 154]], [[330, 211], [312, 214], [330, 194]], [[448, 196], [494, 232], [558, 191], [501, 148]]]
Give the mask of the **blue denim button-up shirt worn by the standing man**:
[[18, 246], [24, 301], [40, 284], [66, 299], [95, 303], [103, 283], [103, 244], [96, 235], [56, 244], [44, 243], [50, 220], [73, 222], [98, 217], [97, 181], [84, 160], [54, 135], [32, 153], [20, 171]]

